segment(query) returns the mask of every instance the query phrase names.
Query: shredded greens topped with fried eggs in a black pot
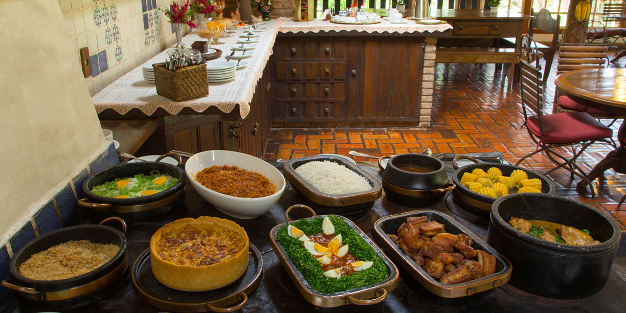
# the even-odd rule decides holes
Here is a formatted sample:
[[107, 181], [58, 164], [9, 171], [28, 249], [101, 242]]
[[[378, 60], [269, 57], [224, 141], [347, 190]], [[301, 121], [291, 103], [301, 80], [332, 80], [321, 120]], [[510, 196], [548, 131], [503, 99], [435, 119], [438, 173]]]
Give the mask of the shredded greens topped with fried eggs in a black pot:
[[155, 173], [152, 175], [137, 174], [135, 177], [117, 178], [111, 182], [95, 186], [91, 192], [101, 197], [125, 199], [154, 195], [172, 188], [178, 180], [170, 175]]

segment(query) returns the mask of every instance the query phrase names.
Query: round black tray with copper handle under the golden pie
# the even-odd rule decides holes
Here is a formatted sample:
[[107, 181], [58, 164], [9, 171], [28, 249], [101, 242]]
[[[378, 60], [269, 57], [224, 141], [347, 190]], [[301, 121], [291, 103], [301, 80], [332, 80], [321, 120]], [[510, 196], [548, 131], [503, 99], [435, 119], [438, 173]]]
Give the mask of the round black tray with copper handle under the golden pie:
[[[249, 245], [249, 262], [245, 274], [230, 285], [206, 292], [184, 292], [165, 287], [156, 280], [150, 265], [150, 249], [146, 249], [133, 265], [133, 289], [142, 300], [170, 312], [230, 312], [248, 302], [248, 295], [261, 282], [263, 258], [257, 247]], [[239, 302], [236, 305], [235, 302]], [[232, 305], [232, 307], [227, 307]]]

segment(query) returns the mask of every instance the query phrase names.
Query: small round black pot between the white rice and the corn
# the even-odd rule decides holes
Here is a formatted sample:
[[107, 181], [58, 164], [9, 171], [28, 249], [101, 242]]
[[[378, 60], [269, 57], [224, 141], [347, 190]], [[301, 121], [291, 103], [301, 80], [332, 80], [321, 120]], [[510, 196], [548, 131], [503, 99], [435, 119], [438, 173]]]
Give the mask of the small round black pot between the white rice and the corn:
[[[389, 156], [383, 156], [378, 160], [381, 177], [392, 185], [411, 190], [434, 190], [448, 185], [446, 165], [432, 156], [414, 153], [395, 155], [391, 156], [386, 167], [382, 167], [381, 160], [384, 158]], [[414, 173], [401, 170], [400, 167], [424, 167], [433, 172]]]

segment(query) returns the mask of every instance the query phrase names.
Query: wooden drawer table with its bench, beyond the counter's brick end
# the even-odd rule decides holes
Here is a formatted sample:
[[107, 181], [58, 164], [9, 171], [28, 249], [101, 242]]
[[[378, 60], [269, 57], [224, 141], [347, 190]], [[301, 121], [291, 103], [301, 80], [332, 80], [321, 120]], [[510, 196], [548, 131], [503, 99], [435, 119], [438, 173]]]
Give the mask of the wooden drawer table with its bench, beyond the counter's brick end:
[[[515, 11], [490, 10], [442, 10], [431, 11], [431, 16], [448, 22], [453, 29], [450, 36], [437, 41], [436, 63], [519, 63], [521, 33], [524, 21], [534, 16]], [[497, 48], [501, 38], [515, 38], [515, 48]], [[509, 66], [509, 78], [513, 77], [513, 66]], [[504, 79], [502, 80], [504, 86]], [[511, 79], [508, 81], [511, 90]]]

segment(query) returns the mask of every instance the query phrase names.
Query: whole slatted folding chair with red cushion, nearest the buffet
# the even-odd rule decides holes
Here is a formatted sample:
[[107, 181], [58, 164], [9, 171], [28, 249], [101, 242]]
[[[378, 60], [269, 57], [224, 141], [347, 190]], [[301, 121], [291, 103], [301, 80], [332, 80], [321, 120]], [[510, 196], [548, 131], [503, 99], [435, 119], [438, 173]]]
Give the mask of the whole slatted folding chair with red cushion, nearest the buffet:
[[[531, 43], [532, 39], [528, 42]], [[593, 143], [598, 141], [610, 143], [613, 130], [585, 112], [544, 115], [543, 81], [537, 51], [530, 46], [523, 46], [521, 53], [523, 53], [523, 58], [520, 58], [522, 110], [528, 135], [537, 148], [523, 156], [515, 165], [519, 165], [529, 156], [543, 152], [555, 164], [554, 168], [545, 173], [546, 175], [558, 168], [564, 168], [572, 174], [572, 178], [576, 175], [592, 186], [587, 174], [576, 164], [576, 160]], [[533, 62], [536, 64], [533, 65]], [[575, 147], [579, 147], [579, 150], [577, 151]], [[566, 148], [565, 151], [572, 148], [572, 156], [565, 155], [560, 148]], [[593, 188], [591, 192], [592, 197], [595, 196]]]

